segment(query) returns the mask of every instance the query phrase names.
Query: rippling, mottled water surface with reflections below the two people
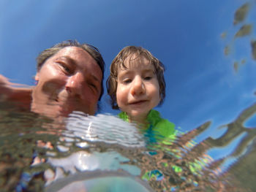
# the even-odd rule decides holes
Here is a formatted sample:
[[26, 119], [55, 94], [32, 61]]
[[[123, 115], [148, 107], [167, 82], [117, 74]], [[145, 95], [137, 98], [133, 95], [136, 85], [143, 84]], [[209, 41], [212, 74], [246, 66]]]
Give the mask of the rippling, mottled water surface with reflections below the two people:
[[[67, 185], [94, 191], [104, 186], [118, 191], [132, 185], [144, 191], [252, 191], [256, 131], [244, 123], [255, 112], [253, 104], [222, 126], [227, 131], [216, 139], [193, 142], [211, 126], [206, 122], [173, 141], [146, 145], [135, 126], [110, 115], [74, 113], [60, 123], [34, 113], [5, 110], [0, 121], [0, 187], [42, 191], [47, 185], [52, 191]], [[235, 145], [238, 137], [232, 153], [227, 150], [219, 159], [208, 155], [212, 148]], [[230, 157], [236, 158], [235, 163], [225, 165]], [[116, 182], [108, 182], [110, 178]], [[78, 181], [79, 185], [72, 184]]]

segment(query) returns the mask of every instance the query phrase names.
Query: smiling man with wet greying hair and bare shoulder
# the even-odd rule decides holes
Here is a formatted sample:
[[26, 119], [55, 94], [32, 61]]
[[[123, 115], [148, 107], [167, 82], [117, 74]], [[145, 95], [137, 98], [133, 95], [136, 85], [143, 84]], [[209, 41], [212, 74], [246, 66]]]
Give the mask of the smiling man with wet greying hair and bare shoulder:
[[94, 115], [103, 94], [105, 62], [96, 47], [77, 41], [61, 42], [42, 51], [37, 58], [36, 86], [13, 88], [0, 76], [0, 101], [51, 118], [72, 111]]

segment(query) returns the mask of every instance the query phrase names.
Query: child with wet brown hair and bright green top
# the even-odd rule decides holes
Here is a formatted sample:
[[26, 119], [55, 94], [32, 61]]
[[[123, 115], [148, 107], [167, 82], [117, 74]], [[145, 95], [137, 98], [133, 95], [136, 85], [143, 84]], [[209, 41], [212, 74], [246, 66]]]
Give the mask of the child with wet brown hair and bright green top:
[[164, 70], [148, 50], [128, 46], [112, 61], [107, 80], [112, 108], [122, 111], [119, 117], [143, 126], [155, 139], [175, 134], [175, 125], [152, 110], [165, 99]]

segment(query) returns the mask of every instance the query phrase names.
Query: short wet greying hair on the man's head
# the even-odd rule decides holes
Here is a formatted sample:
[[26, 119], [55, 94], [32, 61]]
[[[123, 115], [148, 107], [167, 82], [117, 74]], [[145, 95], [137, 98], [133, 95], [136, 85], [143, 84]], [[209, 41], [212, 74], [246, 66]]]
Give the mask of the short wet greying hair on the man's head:
[[97, 62], [99, 65], [101, 71], [102, 71], [102, 82], [101, 82], [101, 92], [99, 96], [99, 100], [101, 99], [103, 93], [104, 93], [104, 88], [103, 88], [103, 79], [104, 79], [104, 72], [105, 72], [105, 61], [102, 58], [102, 55], [99, 53], [99, 50], [97, 47], [94, 47], [89, 44], [80, 44], [76, 40], [67, 40], [64, 42], [60, 42], [53, 47], [50, 47], [46, 50], [43, 50], [37, 57], [37, 72], [41, 69], [42, 65], [45, 63], [48, 58], [52, 57], [56, 53], [59, 52], [59, 50], [63, 49], [64, 47], [80, 47], [83, 50], [85, 50], [87, 53], [91, 55], [92, 58]]

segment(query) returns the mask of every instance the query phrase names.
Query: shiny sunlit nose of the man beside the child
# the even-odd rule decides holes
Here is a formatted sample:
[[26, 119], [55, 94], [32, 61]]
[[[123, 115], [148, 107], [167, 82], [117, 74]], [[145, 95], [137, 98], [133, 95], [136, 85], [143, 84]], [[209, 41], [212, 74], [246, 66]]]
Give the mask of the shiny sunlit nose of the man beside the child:
[[68, 78], [65, 88], [69, 94], [83, 96], [83, 84], [83, 74], [77, 72]]

